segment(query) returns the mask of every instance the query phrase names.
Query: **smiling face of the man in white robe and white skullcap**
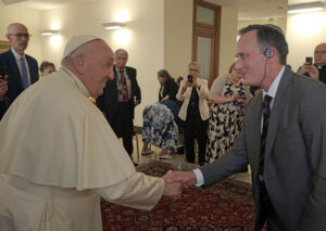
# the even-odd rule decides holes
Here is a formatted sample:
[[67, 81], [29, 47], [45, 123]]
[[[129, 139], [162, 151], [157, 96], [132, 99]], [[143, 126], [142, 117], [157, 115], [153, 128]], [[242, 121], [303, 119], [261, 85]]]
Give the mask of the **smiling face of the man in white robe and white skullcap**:
[[104, 41], [92, 41], [91, 52], [86, 55], [84, 85], [90, 95], [97, 99], [103, 93], [109, 79], [113, 79], [113, 52]]

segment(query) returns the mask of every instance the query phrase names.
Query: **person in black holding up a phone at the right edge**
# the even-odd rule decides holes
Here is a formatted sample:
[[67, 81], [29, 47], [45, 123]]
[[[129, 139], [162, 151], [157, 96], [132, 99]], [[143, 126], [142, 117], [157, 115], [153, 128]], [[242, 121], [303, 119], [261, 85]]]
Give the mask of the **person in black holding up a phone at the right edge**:
[[314, 60], [313, 64], [312, 57], [305, 57], [305, 63], [300, 66], [298, 74], [326, 84], [326, 43], [321, 43], [315, 48]]

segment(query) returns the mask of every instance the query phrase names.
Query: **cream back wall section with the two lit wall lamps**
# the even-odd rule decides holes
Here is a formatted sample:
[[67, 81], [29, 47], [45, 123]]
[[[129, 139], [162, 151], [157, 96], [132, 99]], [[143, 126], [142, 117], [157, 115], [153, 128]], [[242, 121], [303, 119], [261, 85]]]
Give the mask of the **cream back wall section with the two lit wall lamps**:
[[[140, 4], [141, 2], [141, 4]], [[136, 107], [135, 125], [142, 126], [142, 111], [158, 100], [158, 69], [163, 67], [164, 28], [163, 0], [103, 0], [41, 13], [42, 29], [60, 29], [61, 44], [50, 37], [42, 41], [42, 57], [58, 66], [64, 44], [74, 35], [92, 34], [103, 38], [113, 50], [124, 48], [129, 53], [127, 65], [137, 68], [142, 102]], [[105, 30], [101, 25], [116, 21], [125, 12], [127, 26], [123, 30]], [[123, 37], [116, 39], [122, 34]], [[124, 42], [129, 37], [127, 42]], [[59, 39], [59, 40], [60, 40]]]

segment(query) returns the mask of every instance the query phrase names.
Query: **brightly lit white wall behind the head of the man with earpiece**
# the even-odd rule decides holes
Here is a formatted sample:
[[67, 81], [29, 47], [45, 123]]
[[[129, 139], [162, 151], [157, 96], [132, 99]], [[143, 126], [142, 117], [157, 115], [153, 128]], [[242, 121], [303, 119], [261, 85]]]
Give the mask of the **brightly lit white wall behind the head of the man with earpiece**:
[[315, 47], [326, 42], [326, 11], [288, 15], [286, 37], [288, 64], [297, 72], [305, 56], [313, 56]]

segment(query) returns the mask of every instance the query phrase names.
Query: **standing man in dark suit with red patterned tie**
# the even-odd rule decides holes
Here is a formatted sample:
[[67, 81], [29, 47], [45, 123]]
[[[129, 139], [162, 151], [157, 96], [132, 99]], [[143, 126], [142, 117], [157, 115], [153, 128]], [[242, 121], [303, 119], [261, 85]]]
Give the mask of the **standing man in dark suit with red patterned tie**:
[[135, 106], [141, 100], [140, 88], [136, 78], [137, 70], [126, 66], [127, 51], [118, 49], [114, 55], [114, 79], [106, 82], [103, 94], [97, 99], [97, 105], [104, 113], [116, 137], [123, 139], [124, 147], [133, 159], [134, 115]]

